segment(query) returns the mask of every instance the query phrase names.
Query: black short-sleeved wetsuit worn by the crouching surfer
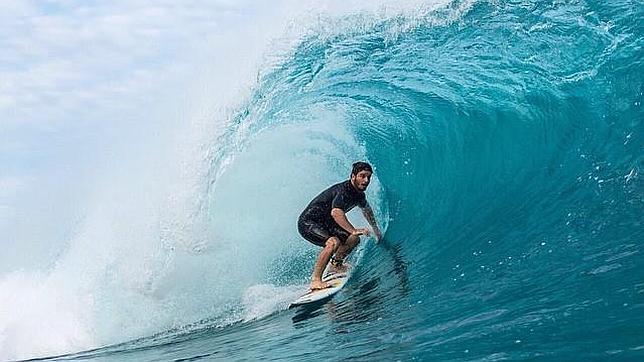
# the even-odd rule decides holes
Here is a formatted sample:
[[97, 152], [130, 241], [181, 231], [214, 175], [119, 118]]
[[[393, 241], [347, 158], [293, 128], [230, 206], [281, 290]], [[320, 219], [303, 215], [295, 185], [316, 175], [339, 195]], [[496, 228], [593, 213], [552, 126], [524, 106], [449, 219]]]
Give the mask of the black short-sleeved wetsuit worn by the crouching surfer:
[[367, 206], [364, 192], [356, 190], [350, 180], [335, 184], [322, 191], [302, 211], [297, 221], [297, 229], [304, 239], [317, 246], [324, 247], [332, 236], [344, 243], [349, 233], [333, 220], [331, 209], [338, 208], [348, 212], [356, 205]]

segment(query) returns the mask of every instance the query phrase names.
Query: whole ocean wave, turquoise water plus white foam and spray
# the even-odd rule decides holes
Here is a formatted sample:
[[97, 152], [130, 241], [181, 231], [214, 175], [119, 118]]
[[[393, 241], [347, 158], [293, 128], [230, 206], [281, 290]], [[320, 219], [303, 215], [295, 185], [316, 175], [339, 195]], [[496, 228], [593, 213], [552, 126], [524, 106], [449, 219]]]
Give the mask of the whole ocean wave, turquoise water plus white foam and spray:
[[[190, 192], [94, 211], [48, 269], [0, 275], [0, 359], [644, 360], [644, 3], [314, 19]], [[384, 239], [335, 298], [288, 309], [319, 252], [297, 216], [357, 160]]]

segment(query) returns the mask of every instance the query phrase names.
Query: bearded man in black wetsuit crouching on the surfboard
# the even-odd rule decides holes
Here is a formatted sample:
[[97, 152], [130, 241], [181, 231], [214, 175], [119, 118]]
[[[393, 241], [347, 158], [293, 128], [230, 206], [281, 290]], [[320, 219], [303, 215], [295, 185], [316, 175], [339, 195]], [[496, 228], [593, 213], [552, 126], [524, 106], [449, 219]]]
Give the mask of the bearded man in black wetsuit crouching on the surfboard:
[[331, 271], [346, 271], [344, 259], [358, 245], [360, 235], [369, 235], [369, 229], [356, 229], [351, 225], [345, 215], [349, 210], [359, 206], [374, 231], [376, 241], [380, 241], [382, 234], [364, 193], [372, 173], [373, 169], [368, 163], [354, 163], [349, 180], [322, 191], [300, 214], [297, 222], [300, 234], [304, 239], [323, 248], [313, 267], [311, 290], [329, 287], [322, 281], [322, 272], [329, 261]]

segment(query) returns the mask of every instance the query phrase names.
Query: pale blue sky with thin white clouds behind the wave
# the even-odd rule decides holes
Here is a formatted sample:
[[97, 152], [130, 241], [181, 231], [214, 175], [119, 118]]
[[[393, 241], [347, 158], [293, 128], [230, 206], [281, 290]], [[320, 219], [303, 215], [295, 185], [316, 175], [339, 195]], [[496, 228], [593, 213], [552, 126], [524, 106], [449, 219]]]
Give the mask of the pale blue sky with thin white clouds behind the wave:
[[[51, 233], [74, 222], [98, 163], [136, 152], [160, 123], [193, 117], [195, 79], [221, 56], [210, 44], [252, 15], [243, 6], [1, 1], [0, 245], [65, 238]], [[17, 264], [27, 257], [15, 254]]]

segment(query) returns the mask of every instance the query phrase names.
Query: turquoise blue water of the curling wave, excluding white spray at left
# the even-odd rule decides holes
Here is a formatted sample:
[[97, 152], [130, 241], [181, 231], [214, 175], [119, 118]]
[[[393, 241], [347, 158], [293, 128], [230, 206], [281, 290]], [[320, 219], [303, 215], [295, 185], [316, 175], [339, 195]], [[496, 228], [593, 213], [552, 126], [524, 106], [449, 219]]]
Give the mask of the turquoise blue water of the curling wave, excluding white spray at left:
[[[59, 359], [644, 360], [644, 4], [336, 20], [262, 71], [210, 150], [205, 207], [251, 192], [251, 173], [297, 194], [275, 208], [297, 215], [368, 160], [386, 233], [362, 243], [345, 289]], [[306, 177], [282, 184], [282, 170]], [[318, 250], [284, 228], [288, 248], [253, 282], [306, 283]]]

